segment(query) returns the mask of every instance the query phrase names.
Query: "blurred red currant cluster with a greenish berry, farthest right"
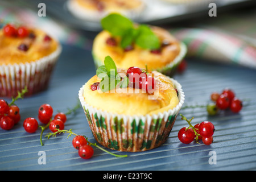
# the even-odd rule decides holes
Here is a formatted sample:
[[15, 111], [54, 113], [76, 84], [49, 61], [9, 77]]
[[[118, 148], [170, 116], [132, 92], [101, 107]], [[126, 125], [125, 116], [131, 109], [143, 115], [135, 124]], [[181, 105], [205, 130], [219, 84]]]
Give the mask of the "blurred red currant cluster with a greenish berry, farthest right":
[[210, 99], [214, 102], [214, 104], [207, 106], [210, 115], [216, 115], [218, 110], [226, 109], [230, 109], [233, 113], [239, 113], [243, 107], [242, 101], [236, 97], [231, 89], [224, 89], [222, 93], [213, 92]]

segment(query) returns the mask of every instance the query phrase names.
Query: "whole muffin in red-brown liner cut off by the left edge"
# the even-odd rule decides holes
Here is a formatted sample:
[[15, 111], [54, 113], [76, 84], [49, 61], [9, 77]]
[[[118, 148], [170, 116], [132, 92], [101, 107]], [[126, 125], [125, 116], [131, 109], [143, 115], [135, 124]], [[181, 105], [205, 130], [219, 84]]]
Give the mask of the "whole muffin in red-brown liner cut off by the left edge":
[[57, 40], [46, 32], [6, 24], [0, 30], [0, 97], [27, 96], [47, 88], [61, 52]]

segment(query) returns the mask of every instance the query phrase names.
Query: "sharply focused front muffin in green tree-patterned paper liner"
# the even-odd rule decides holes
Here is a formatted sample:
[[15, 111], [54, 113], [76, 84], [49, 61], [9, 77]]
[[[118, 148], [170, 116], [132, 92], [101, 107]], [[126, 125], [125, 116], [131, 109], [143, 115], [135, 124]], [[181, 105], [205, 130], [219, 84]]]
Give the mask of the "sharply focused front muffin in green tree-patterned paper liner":
[[[129, 69], [117, 68], [116, 77], [121, 77], [121, 83], [126, 80]], [[184, 103], [184, 93], [174, 79], [157, 71], [146, 74], [147, 79], [150, 76], [154, 78], [154, 92], [143, 92], [143, 86], [137, 88], [134, 83], [131, 84], [130, 74], [127, 87], [117, 84], [113, 89], [103, 92], [103, 78], [97, 74], [79, 90], [79, 99], [90, 129], [102, 146], [118, 151], [139, 152], [166, 142]]]

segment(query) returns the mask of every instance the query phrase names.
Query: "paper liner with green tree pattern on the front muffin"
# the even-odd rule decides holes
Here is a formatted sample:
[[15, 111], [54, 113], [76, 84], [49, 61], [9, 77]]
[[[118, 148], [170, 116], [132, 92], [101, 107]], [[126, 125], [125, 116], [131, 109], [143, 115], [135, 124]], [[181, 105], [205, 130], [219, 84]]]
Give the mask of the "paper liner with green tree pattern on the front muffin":
[[94, 138], [102, 146], [118, 151], [146, 151], [158, 147], [166, 142], [177, 114], [170, 115], [167, 121], [164, 119], [151, 119], [143, 122], [127, 121], [126, 126], [123, 119], [110, 118], [109, 120], [100, 114], [91, 114], [85, 109]]

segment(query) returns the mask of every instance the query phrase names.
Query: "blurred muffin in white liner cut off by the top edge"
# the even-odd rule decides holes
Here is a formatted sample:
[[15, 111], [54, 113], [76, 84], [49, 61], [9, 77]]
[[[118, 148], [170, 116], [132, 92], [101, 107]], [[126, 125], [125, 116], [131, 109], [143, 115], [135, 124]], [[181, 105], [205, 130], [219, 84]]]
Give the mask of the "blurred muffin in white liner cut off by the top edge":
[[109, 13], [121, 13], [135, 19], [145, 5], [141, 0], [69, 0], [68, 10], [77, 18], [99, 22]]

